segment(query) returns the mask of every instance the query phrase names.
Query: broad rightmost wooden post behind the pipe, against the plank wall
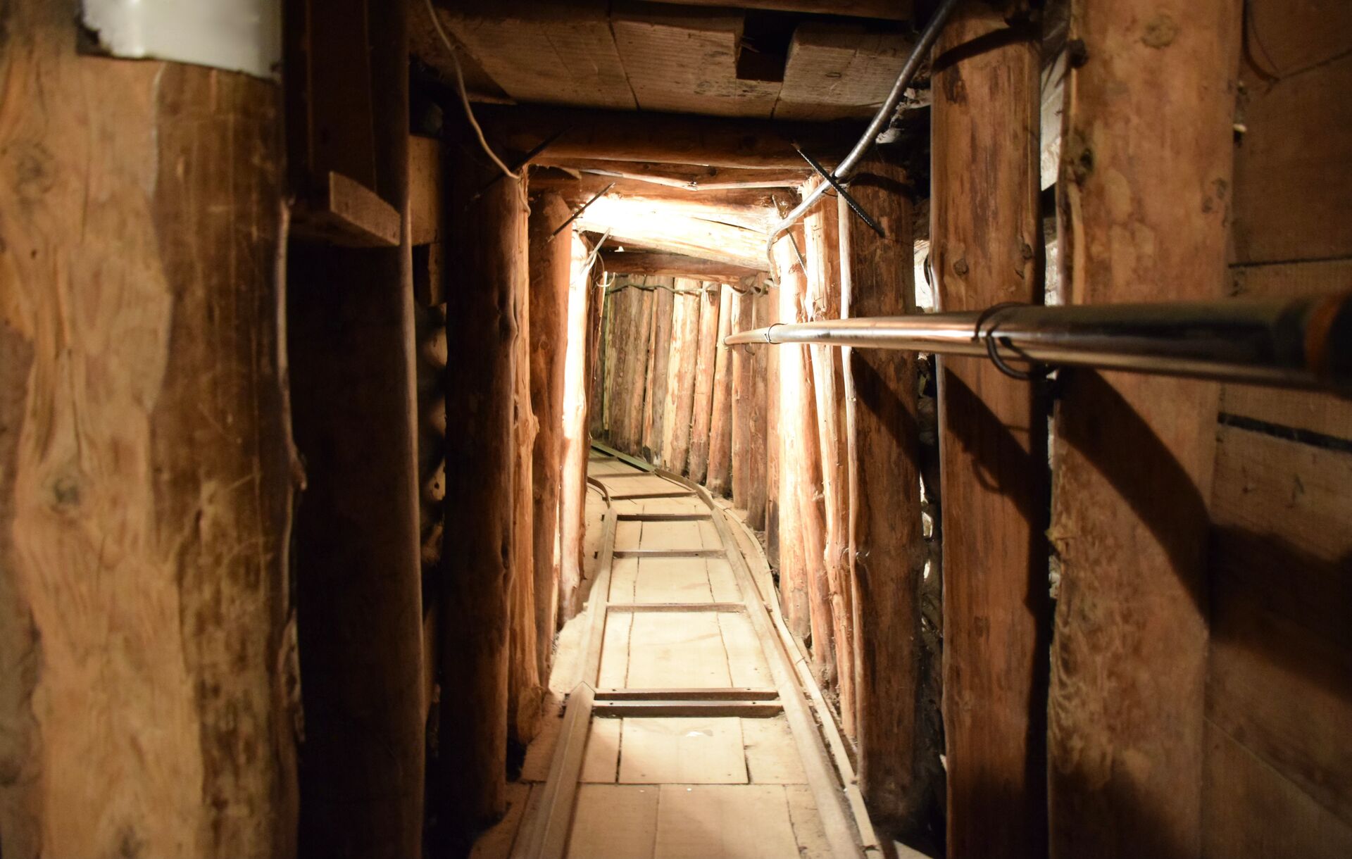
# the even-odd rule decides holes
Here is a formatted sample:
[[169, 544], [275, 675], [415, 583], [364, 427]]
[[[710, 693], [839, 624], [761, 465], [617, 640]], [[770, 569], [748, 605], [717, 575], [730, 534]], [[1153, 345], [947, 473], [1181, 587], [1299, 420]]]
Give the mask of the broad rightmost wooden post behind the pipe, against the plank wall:
[[[1240, 22], [1238, 0], [1073, 7], [1069, 35], [1086, 61], [1065, 85], [1057, 180], [1071, 303], [1226, 294]], [[1051, 528], [1061, 561], [1053, 856], [1201, 852], [1215, 414], [1210, 383], [1064, 377]]]

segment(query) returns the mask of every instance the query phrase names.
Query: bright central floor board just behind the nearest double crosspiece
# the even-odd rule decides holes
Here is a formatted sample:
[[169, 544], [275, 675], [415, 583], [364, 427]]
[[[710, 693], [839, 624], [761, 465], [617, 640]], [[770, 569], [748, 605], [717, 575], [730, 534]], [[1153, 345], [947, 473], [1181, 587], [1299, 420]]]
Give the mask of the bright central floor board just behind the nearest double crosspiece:
[[719, 616], [708, 611], [660, 611], [631, 617], [627, 686], [707, 689], [733, 684], [718, 626]]

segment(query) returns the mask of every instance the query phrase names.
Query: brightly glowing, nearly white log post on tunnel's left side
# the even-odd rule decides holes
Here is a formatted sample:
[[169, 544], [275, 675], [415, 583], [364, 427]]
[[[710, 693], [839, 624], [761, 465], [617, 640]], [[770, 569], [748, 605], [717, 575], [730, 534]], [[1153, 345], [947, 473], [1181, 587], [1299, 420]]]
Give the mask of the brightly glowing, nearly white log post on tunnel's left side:
[[[558, 501], [558, 610], [556, 624], [562, 626], [577, 614], [577, 588], [583, 580], [583, 534], [587, 514], [587, 364], [591, 352], [589, 317], [592, 312], [592, 272], [583, 271], [587, 252], [575, 243], [568, 284], [568, 331], [564, 357], [564, 464]], [[598, 403], [599, 409], [600, 404]], [[556, 628], [557, 628], [556, 626]], [[544, 675], [548, 680], [549, 675]]]

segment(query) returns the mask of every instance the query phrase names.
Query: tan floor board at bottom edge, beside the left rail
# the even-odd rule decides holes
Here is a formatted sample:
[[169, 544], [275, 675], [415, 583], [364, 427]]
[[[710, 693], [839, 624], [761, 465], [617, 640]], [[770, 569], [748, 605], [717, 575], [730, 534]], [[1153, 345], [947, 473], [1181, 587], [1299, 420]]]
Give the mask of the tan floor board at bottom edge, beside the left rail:
[[568, 839], [573, 859], [648, 859], [657, 837], [657, 787], [583, 785]]

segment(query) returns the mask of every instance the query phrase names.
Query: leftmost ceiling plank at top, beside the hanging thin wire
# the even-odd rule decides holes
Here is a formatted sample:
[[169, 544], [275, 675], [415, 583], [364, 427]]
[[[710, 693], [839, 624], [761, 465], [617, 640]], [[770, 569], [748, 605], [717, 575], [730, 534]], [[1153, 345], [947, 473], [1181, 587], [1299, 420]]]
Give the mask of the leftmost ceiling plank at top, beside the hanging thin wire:
[[484, 72], [518, 101], [634, 110], [602, 0], [438, 7]]

